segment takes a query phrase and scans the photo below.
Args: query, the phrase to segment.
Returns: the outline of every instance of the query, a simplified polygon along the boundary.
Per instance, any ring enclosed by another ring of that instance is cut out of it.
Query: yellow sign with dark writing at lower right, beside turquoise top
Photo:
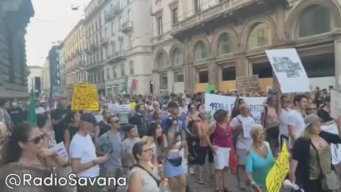
[[[283,181],[290,171],[289,162],[288,147],[286,146],[286,142],[284,142],[281,154],[279,154],[276,163],[269,171],[268,176],[266,176],[266,188],[268,188],[268,192],[281,191]]]

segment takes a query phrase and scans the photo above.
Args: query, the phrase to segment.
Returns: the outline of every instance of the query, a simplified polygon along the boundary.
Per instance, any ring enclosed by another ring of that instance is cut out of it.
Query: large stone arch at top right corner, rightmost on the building
[[[301,1],[298,6],[293,10],[288,20],[286,21],[286,38],[289,41],[296,40],[297,37],[297,26],[301,21],[303,14],[309,9],[310,6],[319,5],[323,6],[326,9],[329,9],[331,13],[331,19],[334,23],[334,28],[341,27],[341,5],[337,3],[336,0],[310,0],[310,1]]]

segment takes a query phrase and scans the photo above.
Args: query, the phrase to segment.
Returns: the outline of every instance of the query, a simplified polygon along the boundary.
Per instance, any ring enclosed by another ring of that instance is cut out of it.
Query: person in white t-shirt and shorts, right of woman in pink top
[[[254,122],[254,118],[250,116],[250,106],[246,103],[240,105],[240,114],[234,117],[231,122],[232,130],[238,134],[238,140],[236,144],[236,153],[238,156],[238,168],[237,168],[237,179],[238,186],[240,190],[245,190],[245,182],[241,181],[240,178],[245,178],[245,164],[247,150],[252,144],[252,139],[250,137],[250,128]]]

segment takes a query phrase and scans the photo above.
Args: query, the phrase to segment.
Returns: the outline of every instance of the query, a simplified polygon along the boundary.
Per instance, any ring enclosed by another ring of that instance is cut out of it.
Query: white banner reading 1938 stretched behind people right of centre
[[[252,117],[256,124],[261,124],[261,109],[266,97],[243,97],[244,101],[250,105]],[[227,110],[229,113],[234,107],[236,97],[205,94],[205,110],[214,114],[217,110]]]

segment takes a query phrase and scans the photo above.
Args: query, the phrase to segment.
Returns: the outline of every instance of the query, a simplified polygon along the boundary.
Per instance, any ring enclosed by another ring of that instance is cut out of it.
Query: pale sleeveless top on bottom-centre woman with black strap
[[[157,169],[154,169],[157,172]],[[134,174],[135,172],[139,173],[141,175],[142,178],[142,188],[140,192],[153,192],[153,191],[159,191],[158,189],[158,184],[156,183],[156,181],[154,180],[153,177],[151,177],[147,171],[145,171],[144,169],[141,169],[137,166],[134,166],[133,169],[131,169],[130,174],[129,174],[129,178],[132,174]],[[154,171],[155,172],[155,171]],[[158,176],[158,174],[156,173],[151,173],[153,174],[153,176],[157,179],[160,178],[160,176]],[[129,179],[128,179],[129,181]]]

